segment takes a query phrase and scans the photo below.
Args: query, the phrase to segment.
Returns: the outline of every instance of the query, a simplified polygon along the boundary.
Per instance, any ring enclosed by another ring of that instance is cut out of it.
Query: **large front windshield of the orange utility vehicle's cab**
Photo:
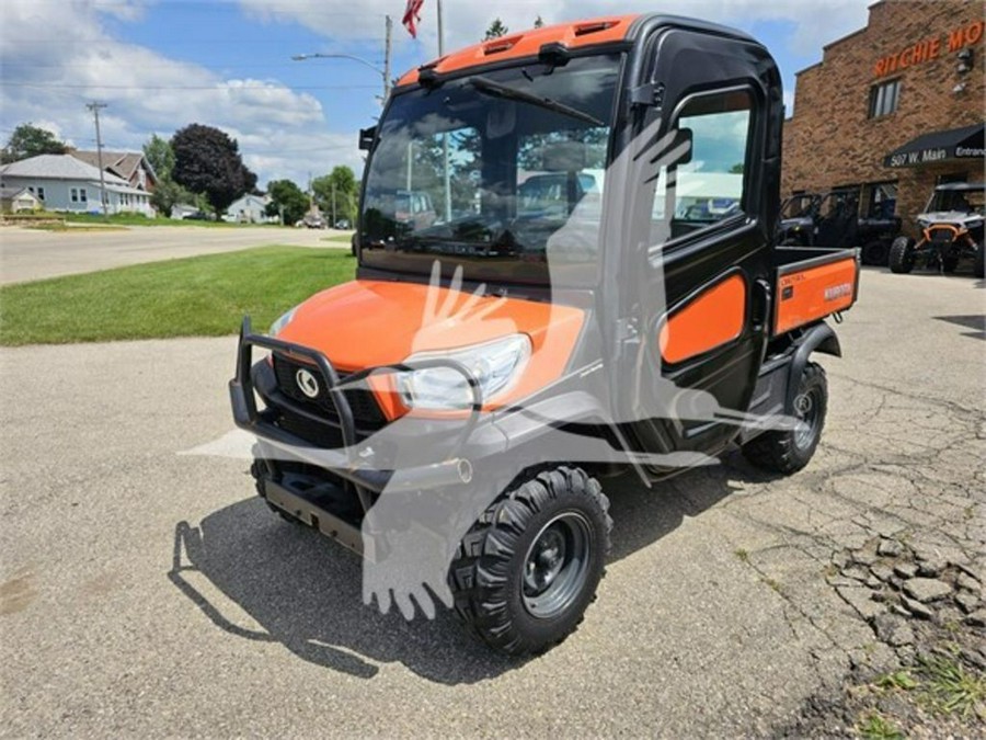
[[[363,263],[592,284],[620,57],[532,64],[397,95],[380,124]]]

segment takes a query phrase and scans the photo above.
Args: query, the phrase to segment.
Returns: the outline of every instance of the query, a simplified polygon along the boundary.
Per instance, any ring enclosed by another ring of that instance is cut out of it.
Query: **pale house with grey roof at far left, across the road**
[[[150,193],[108,172],[106,212],[153,216]],[[100,212],[100,170],[71,155],[39,155],[0,167],[0,186],[26,187],[48,210]]]

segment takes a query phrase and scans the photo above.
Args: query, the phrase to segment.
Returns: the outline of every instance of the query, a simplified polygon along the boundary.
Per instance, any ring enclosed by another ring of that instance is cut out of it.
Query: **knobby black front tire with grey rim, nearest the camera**
[[[515,656],[543,652],[575,631],[605,572],[608,510],[598,481],[567,466],[496,499],[449,569],[467,631]]]

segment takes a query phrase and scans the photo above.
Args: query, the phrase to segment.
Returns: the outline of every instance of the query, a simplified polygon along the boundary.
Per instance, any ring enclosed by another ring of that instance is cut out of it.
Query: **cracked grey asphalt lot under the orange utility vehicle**
[[[982,579],[982,287],[863,275],[802,473],[607,482],[599,599],[528,661],[364,607],[355,557],[274,516],[246,463],[179,454],[231,429],[233,338],[5,349],[0,733],[778,732],[908,647],[834,580],[846,553],[948,544]]]

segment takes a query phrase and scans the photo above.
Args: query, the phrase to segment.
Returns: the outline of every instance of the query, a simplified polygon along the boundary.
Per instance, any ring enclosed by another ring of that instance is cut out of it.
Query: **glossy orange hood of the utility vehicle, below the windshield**
[[[278,339],[319,350],[341,371],[353,372],[524,333],[531,341],[531,358],[511,394],[523,396],[562,374],[584,318],[572,306],[477,298],[417,283],[353,281],[301,304]]]

